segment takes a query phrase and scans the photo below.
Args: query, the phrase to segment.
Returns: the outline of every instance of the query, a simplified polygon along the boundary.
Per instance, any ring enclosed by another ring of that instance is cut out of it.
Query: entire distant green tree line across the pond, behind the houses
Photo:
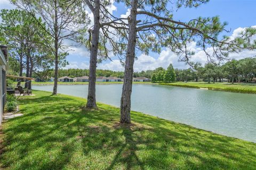
[[[59,77],[68,76],[71,78],[89,76],[89,69],[59,69]],[[111,70],[97,70],[97,77],[118,77],[123,79],[124,72]],[[37,71],[33,77],[47,80],[54,77],[54,70]],[[155,70],[134,72],[133,77],[145,77],[152,82],[174,82],[174,81],[205,81],[205,82],[255,82],[256,78],[256,58],[243,58],[241,60],[231,60],[225,64],[207,63],[204,66],[196,64],[194,68],[175,69],[172,64],[165,70],[158,67]]]

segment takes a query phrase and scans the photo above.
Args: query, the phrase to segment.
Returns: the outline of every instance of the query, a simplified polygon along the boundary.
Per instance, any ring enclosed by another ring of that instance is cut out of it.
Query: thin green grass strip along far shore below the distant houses
[[[34,86],[42,86],[42,85],[53,85],[53,82],[35,82],[33,81],[32,84]],[[87,85],[88,82],[58,82],[59,85]],[[123,82],[96,82],[96,84],[123,84]],[[151,82],[133,82],[133,84],[153,84]],[[155,83],[154,83],[155,84]]]

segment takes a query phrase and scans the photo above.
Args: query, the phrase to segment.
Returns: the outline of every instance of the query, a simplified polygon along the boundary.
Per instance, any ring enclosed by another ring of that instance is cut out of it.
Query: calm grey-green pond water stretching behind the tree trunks
[[[58,92],[86,98],[87,88],[58,86]],[[53,86],[33,89],[52,91]],[[97,101],[119,107],[121,92],[122,84],[97,85]],[[256,95],[134,84],[132,110],[256,142]]]

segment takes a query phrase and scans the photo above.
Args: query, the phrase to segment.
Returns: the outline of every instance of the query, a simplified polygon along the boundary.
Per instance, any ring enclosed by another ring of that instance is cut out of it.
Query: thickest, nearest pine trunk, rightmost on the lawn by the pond
[[[137,38],[137,7],[138,0],[132,1],[131,14],[129,20],[129,39],[125,59],[124,84],[121,97],[120,123],[131,123],[131,94],[132,94],[132,75],[135,57],[135,45]]]

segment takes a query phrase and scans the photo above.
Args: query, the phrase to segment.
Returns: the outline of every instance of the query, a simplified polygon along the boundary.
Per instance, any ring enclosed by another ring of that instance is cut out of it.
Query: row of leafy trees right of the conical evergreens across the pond
[[[206,82],[255,82],[256,58],[231,60],[219,65],[207,63],[196,65],[194,69],[175,69],[176,81],[206,81]]]

